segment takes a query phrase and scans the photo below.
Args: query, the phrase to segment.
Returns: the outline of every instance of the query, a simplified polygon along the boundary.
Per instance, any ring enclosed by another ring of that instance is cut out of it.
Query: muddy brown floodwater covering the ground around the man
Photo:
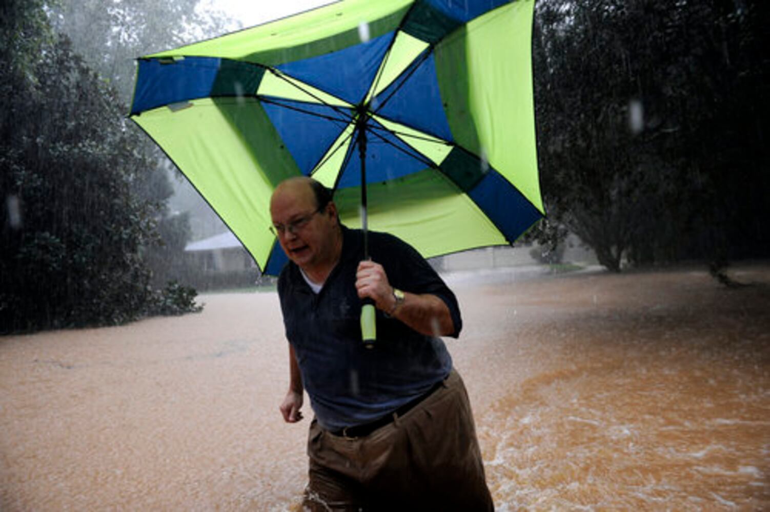
[[[447,344],[497,510],[770,509],[770,266],[480,275]],[[0,337],[0,510],[299,510],[277,296],[200,300]]]

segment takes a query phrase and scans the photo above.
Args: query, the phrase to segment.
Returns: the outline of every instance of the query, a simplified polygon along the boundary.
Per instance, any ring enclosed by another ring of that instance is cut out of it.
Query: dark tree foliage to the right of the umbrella
[[[750,0],[538,2],[551,221],[536,234],[567,226],[614,271],[768,256],[767,14]]]

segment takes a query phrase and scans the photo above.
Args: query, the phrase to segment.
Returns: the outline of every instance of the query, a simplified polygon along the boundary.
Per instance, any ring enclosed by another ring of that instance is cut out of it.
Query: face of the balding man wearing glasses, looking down
[[[305,271],[326,264],[333,251],[336,209],[327,204],[320,211],[309,185],[286,183],[276,188],[270,216],[286,256]]]

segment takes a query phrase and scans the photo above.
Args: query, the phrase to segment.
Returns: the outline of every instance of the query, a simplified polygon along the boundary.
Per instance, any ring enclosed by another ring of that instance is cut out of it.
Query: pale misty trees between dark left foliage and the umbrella
[[[118,91],[122,105],[129,105],[135,79],[135,59],[141,55],[172,48],[198,38],[224,32],[226,16],[222,12],[197,12],[199,0],[59,0],[50,18],[57,32],[72,40],[73,48]],[[115,122],[122,122],[113,112]],[[139,131],[134,125],[129,130]],[[136,138],[136,151],[145,155],[152,169],[146,186],[135,187],[136,194],[158,204],[156,222],[160,234],[156,243],[143,253],[152,270],[152,284],[184,281],[191,273],[184,248],[190,236],[187,216],[173,214],[166,208],[173,190],[169,182],[166,155],[144,136]]]

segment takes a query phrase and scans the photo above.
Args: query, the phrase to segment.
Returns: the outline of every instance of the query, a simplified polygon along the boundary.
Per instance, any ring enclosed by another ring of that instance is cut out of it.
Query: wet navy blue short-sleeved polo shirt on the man
[[[443,300],[454,321],[452,336],[460,334],[457,298],[416,250],[391,234],[370,231],[369,252],[383,265],[393,287]],[[340,261],[318,294],[291,261],[278,279],[286,338],[296,353],[313,412],[321,426],[332,431],[392,413],[452,369],[444,341],[413,331],[379,310],[377,341],[373,348],[363,345],[355,286],[362,259],[362,232],[343,226]]]

